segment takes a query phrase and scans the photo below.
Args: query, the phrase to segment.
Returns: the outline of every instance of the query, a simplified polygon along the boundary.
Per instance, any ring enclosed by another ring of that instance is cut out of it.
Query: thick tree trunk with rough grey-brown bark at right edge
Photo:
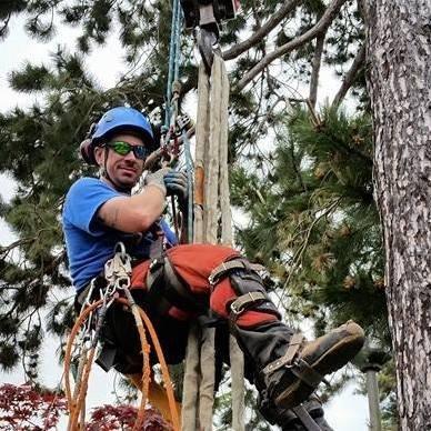
[[[431,1],[365,6],[400,425],[423,431],[431,429]]]

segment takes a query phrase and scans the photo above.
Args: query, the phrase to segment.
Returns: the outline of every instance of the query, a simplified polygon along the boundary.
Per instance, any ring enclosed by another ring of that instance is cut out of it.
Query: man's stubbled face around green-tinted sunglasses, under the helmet
[[[100,167],[107,170],[108,179],[113,182],[113,186],[121,189],[131,189],[134,187],[142,174],[144,160],[134,156],[133,151],[129,151],[127,154],[121,156],[110,147],[114,142],[129,143],[132,147],[142,146],[141,139],[132,134],[117,134],[107,144],[107,148],[96,148],[94,157]],[[124,146],[122,146],[124,147]],[[106,159],[106,151],[108,151],[108,158]]]

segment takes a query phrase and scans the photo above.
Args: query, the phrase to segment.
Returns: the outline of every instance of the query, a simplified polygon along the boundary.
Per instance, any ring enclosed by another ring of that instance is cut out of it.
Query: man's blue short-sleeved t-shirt
[[[123,241],[128,253],[133,258],[147,259],[151,243],[156,240],[152,232],[146,232],[139,240],[137,235],[106,227],[98,220],[99,208],[108,200],[127,196],[96,178],[81,178],[70,188],[62,214],[69,270],[74,288],[80,291],[89,281],[99,275],[104,263],[113,257],[117,242]],[[161,228],[171,244],[176,235],[162,221]]]

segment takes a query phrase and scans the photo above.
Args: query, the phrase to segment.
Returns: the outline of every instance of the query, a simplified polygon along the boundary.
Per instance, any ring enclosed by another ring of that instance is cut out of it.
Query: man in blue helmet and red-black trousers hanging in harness
[[[186,207],[187,180],[181,172],[160,169],[146,177],[139,194],[131,196],[153,148],[149,120],[132,108],[109,110],[89,132],[82,153],[89,163],[99,166],[101,176],[78,180],[63,211],[78,302],[82,303],[90,281],[100,278],[116,243],[126,241],[136,259],[133,295],[150,311],[157,329],[168,334],[163,337],[168,353],[173,351],[176,357],[176,348],[168,345],[172,331],[210,309],[229,322],[244,352],[260,392],[262,413],[285,430],[297,429],[288,410],[303,402],[324,374],[340,369],[358,353],[364,339],[362,329],[348,322],[314,341],[303,340],[281,322],[255,268],[230,248],[182,244],[154,254],[166,198],[177,196]],[[133,331],[127,332],[129,337],[122,332],[130,322],[128,313],[117,310],[108,317],[106,334],[118,348],[116,368],[127,374],[141,367]],[[182,357],[180,353],[172,361]],[[317,410],[319,414],[314,415],[321,417],[321,409]]]

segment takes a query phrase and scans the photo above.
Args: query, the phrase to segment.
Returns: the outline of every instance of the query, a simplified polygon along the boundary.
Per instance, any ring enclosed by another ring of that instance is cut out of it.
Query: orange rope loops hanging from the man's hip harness
[[[169,375],[168,365],[167,365],[166,360],[164,360],[163,351],[161,349],[161,345],[160,345],[160,342],[159,342],[159,339],[157,337],[154,328],[153,328],[150,319],[146,314],[146,312],[138,304],[130,303],[130,301],[126,298],[117,297],[117,298],[114,298],[114,300],[117,302],[120,302],[122,304],[128,305],[131,309],[133,317],[134,317],[134,320],[136,320],[136,323],[137,323],[137,329],[138,329],[140,341],[141,341],[142,353],[144,355],[144,360],[142,363],[142,388],[141,388],[142,398],[141,398],[141,403],[140,403],[140,407],[138,410],[137,421],[134,423],[133,430],[138,431],[142,427],[142,422],[144,419],[144,408],[146,408],[146,402],[147,402],[148,393],[149,393],[149,383],[150,383],[150,379],[151,379],[150,368],[146,367],[146,364],[150,363],[150,359],[149,359],[150,345],[147,341],[144,328],[142,324],[142,320],[143,320],[148,331],[150,332],[151,340],[153,342],[153,345],[154,345],[154,349],[156,349],[156,352],[157,352],[157,355],[159,359],[159,363],[160,363],[161,369],[162,369],[162,375],[163,375],[163,381],[164,381],[164,384],[167,388],[167,394],[168,394],[169,408],[171,411],[171,418],[172,418],[172,422],[173,422],[173,429],[174,429],[174,431],[180,431],[180,421],[179,421],[179,415],[178,415],[178,411],[176,408],[176,400],[174,400],[174,395],[173,395],[173,385],[172,385],[172,381],[171,381],[170,375]],[[88,319],[89,314],[93,310],[100,308],[102,305],[102,303],[103,303],[103,300],[98,300],[98,301],[93,302],[92,304],[88,305],[81,312],[81,314],[78,317],[78,319],[77,319],[77,321],[76,321],[76,323],[70,332],[69,339],[68,339],[66,354],[64,354],[64,385],[66,385],[66,397],[68,399],[68,405],[69,405],[69,411],[70,411],[68,431],[76,431],[76,427],[77,427],[76,422],[78,420],[79,412],[82,408],[82,403],[86,400],[87,390],[88,390],[88,380],[89,380],[90,370],[91,370],[91,365],[92,365],[93,357],[94,357],[94,351],[96,351],[94,348],[92,348],[90,350],[90,355],[89,355],[89,359],[87,360],[86,365],[84,365],[83,377],[82,377],[82,381],[80,382],[80,389],[78,391],[78,395],[72,398],[69,375],[70,375],[71,351],[72,351],[73,341],[78,334],[79,329],[84,323],[84,321]]]

